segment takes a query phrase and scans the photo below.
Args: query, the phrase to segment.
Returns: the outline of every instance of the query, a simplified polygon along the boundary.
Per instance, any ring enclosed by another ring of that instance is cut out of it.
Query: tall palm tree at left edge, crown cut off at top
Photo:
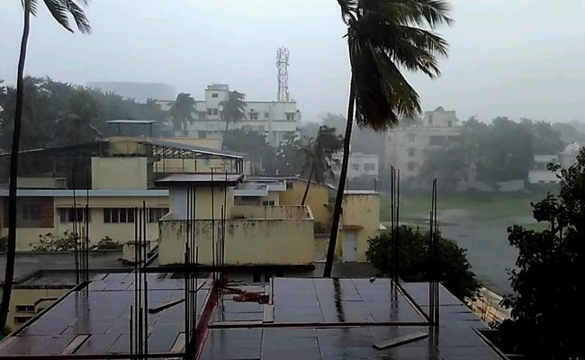
[[[80,0],[87,4],[87,0]],[[84,10],[76,4],[75,0],[44,0],[49,13],[67,31],[74,32],[69,23],[69,15],[73,17],[76,27],[83,33],[90,33],[91,27],[85,17]],[[10,297],[14,282],[14,257],[16,252],[16,181],[18,177],[18,150],[21,139],[21,123],[23,121],[23,97],[24,97],[24,62],[26,60],[26,47],[31,31],[31,14],[37,14],[39,0],[22,0],[24,10],[23,37],[21,40],[21,52],[18,59],[18,72],[16,76],[16,108],[14,110],[13,143],[10,154],[10,184],[8,187],[8,239],[6,249],[6,271],[4,274],[4,290],[2,304],[0,304],[0,329],[4,328]]]

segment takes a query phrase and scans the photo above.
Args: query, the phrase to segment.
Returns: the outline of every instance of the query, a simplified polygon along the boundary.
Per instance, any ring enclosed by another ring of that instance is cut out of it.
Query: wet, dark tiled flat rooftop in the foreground
[[[95,276],[0,343],[0,359],[127,356],[134,279]],[[428,322],[427,283],[274,278],[266,285],[216,287],[223,290],[219,300],[211,295],[211,279],[197,284],[192,306],[199,359],[502,358],[477,331],[486,325],[442,286],[437,327]],[[184,351],[183,299],[181,275],[148,275],[148,310],[160,309],[148,311],[145,320],[150,354],[177,357]],[[408,344],[393,344],[405,337]]]

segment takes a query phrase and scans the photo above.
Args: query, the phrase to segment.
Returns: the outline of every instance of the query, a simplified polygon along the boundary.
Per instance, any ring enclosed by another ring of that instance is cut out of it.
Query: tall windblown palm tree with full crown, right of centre
[[[333,266],[354,116],[360,127],[386,130],[400,119],[417,115],[419,94],[401,69],[439,76],[437,57],[447,55],[448,44],[433,30],[451,23],[449,5],[443,0],[338,0],[338,4],[347,25],[351,80],[343,162],[323,276],[330,276]]]

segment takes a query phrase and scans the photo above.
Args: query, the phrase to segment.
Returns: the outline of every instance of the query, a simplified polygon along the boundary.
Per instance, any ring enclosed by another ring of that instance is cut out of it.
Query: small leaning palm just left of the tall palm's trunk
[[[317,139],[309,140],[309,143],[302,148],[302,153],[305,157],[305,168],[309,167],[309,178],[307,179],[307,186],[305,193],[302,194],[302,202],[304,205],[311,187],[311,179],[315,178],[315,183],[323,184],[328,177],[333,177],[331,170],[331,162],[333,161],[333,154],[343,148],[343,137],[336,135],[335,128],[329,128],[327,125],[321,125],[317,132]]]

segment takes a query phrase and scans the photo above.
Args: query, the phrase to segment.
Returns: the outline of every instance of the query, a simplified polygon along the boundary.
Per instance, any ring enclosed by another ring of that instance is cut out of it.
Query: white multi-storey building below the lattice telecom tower
[[[187,125],[187,129],[175,135],[197,138],[222,138],[226,123],[221,120],[220,103],[228,99],[229,85],[208,85],[205,89],[205,100],[196,100],[197,113],[195,121]],[[173,101],[158,100],[163,110],[170,109]],[[238,122],[230,122],[229,129],[255,130],[266,135],[266,140],[277,146],[285,134],[298,134],[301,124],[301,112],[297,103],[275,101],[246,100],[246,118]]]

